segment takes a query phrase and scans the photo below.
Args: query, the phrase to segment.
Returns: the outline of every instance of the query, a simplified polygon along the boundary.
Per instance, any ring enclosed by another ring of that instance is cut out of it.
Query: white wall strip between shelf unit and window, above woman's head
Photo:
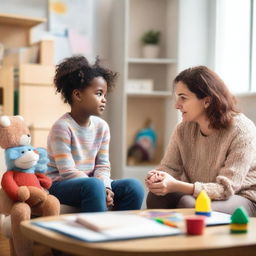
[[[212,0],[179,0],[178,71],[211,64]]]

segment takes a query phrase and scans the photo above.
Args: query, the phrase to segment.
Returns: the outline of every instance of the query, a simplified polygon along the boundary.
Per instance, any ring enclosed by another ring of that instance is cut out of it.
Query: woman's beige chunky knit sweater
[[[256,202],[256,127],[243,114],[232,127],[203,136],[193,122],[180,123],[156,168],[204,189],[212,200],[238,194]]]

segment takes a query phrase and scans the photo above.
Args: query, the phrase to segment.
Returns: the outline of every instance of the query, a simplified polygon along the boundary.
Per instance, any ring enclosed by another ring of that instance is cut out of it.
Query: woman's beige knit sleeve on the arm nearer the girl
[[[160,162],[160,165],[156,167],[156,170],[165,171],[172,175],[175,179],[179,179],[183,173],[183,164],[180,149],[177,143],[178,127],[170,138],[167,150]]]

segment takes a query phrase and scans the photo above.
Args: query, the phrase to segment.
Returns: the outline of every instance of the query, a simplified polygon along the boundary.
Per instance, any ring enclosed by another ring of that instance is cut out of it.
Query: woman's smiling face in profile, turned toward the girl
[[[207,118],[208,97],[198,99],[196,94],[191,92],[182,82],[176,84],[175,96],[175,107],[181,111],[183,121],[200,123],[201,120]]]

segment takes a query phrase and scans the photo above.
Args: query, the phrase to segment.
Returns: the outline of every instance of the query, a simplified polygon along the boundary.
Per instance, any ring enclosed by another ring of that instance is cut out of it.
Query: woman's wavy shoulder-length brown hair
[[[239,113],[235,96],[230,93],[222,79],[209,68],[188,68],[177,75],[173,86],[175,87],[178,82],[184,83],[198,99],[210,98],[210,105],[206,109],[210,128],[228,128],[234,115]]]

